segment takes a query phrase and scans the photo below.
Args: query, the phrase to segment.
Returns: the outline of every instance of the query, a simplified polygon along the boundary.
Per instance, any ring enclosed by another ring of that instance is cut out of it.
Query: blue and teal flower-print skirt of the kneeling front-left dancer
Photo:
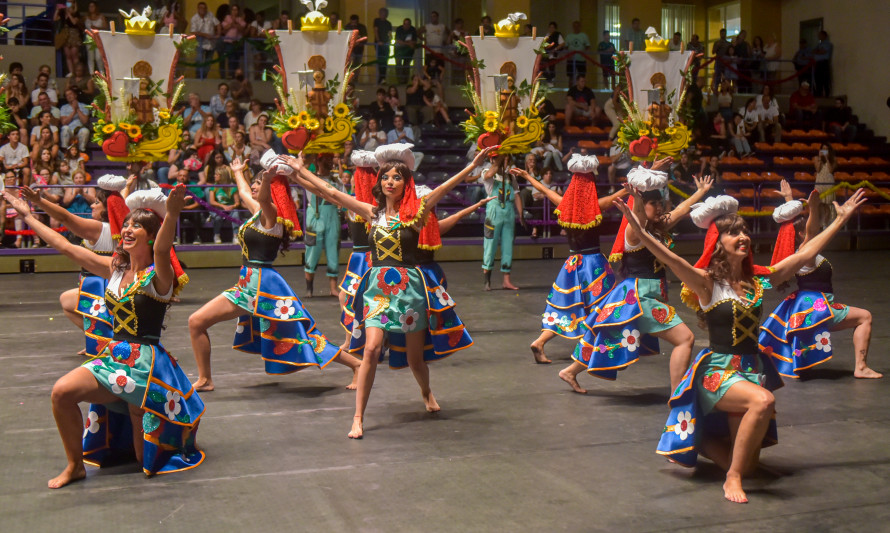
[[[142,469],[147,475],[188,470],[204,460],[196,445],[204,402],[162,346],[112,340],[99,357],[83,366],[122,400],[90,405],[83,433],[85,462],[102,466],[121,453],[132,453],[126,404],[144,410]]]

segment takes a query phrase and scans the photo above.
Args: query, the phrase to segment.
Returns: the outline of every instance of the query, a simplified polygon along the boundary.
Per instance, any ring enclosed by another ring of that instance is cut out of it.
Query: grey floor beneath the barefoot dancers
[[[886,265],[890,252],[834,252],[838,300],[875,315],[871,363],[890,372]],[[763,258],[764,260],[768,260]],[[667,416],[667,358],[646,358],[617,382],[557,377],[572,343],[548,345],[553,365],[532,363],[544,298],[560,261],[519,261],[522,290],[481,292],[478,263],[446,263],[475,346],[431,366],[442,405],[423,410],[409,370],[381,368],[365,438],[346,438],[350,374],[331,365],[267,376],[258,357],[230,347],[234,324],[211,330],[217,390],[198,443],[206,461],[146,479],[135,465],[89,468],[58,491],[64,466],[50,411],[53,382],[75,367],[81,336],[58,294],[74,274],[0,277],[0,516],[3,531],[888,531],[890,378],[852,376],[852,335],[836,356],[777,393],[779,440],[746,487],[751,503],[722,498],[712,465],[688,470],[656,455]],[[186,320],[230,286],[232,270],[195,270],[171,310],[164,345],[190,375]],[[302,293],[302,272],[284,269]],[[495,273],[495,285],[500,276]],[[319,280],[322,281],[322,280]],[[318,285],[321,285],[319,283]],[[679,285],[671,296],[679,301]],[[780,296],[770,294],[766,305]],[[306,301],[340,339],[333,298]],[[695,319],[678,307],[697,334]],[[696,344],[705,344],[701,334]],[[664,345],[662,346],[664,348]]]

